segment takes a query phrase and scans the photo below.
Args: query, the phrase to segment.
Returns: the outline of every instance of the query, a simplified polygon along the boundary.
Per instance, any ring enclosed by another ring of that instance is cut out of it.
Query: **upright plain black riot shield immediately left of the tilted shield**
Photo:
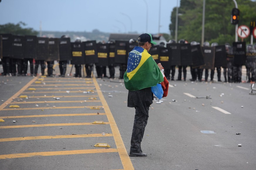
[[[180,44],[181,66],[192,65],[191,45]]]

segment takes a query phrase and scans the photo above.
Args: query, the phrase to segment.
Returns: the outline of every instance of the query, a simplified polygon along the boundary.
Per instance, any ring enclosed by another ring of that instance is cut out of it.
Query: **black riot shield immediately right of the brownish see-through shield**
[[[215,47],[215,61],[214,67],[227,66],[227,54],[225,45],[218,45]]]

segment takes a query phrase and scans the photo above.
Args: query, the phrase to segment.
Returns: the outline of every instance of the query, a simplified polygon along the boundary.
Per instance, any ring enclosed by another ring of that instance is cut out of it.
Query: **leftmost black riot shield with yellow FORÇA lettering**
[[[71,43],[72,60],[71,64],[84,63],[84,44],[80,42]]]

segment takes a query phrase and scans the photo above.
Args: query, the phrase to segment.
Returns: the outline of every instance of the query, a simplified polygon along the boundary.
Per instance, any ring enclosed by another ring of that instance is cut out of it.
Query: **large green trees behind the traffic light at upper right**
[[[256,20],[256,2],[251,0],[236,0],[240,10],[239,25],[249,26]],[[205,9],[205,41],[219,44],[235,41],[235,25],[230,23],[231,10],[235,8],[233,1],[206,0]],[[178,19],[178,40],[197,41],[201,43],[203,0],[181,0]],[[171,14],[169,29],[175,36],[176,7]],[[238,38],[238,41],[241,41]],[[250,38],[244,41],[249,42]]]

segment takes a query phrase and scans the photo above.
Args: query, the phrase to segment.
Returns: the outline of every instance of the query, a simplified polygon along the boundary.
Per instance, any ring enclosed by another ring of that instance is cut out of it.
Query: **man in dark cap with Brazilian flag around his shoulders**
[[[163,82],[160,71],[161,64],[148,53],[151,44],[156,44],[150,34],[141,34],[138,38],[138,47],[129,52],[127,70],[124,73],[124,84],[128,92],[128,107],[135,108],[135,118],[131,137],[129,156],[146,157],[142,153],[140,143],[148,122],[149,106],[153,103],[151,87]]]

